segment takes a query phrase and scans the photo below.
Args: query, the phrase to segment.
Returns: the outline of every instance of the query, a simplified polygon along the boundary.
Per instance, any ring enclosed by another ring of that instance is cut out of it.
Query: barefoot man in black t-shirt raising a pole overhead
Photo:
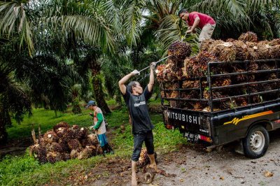
[[[140,74],[139,71],[134,70],[132,73],[123,77],[118,85],[120,92],[123,94],[125,103],[130,109],[132,118],[132,134],[134,135],[134,150],[132,154],[132,185],[137,185],[136,167],[137,161],[140,157],[143,142],[145,142],[148,156],[151,160],[150,167],[158,171],[157,164],[155,163],[155,152],[153,146],[153,124],[151,123],[150,115],[148,114],[147,101],[151,98],[153,85],[155,83],[155,76],[153,70],[155,69],[155,62],[151,63],[150,81],[145,90],[137,81],[130,82],[127,87],[125,83],[132,76]]]

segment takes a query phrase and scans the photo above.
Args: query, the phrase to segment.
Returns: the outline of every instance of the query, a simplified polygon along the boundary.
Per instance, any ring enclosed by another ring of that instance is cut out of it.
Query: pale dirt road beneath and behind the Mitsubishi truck
[[[209,153],[188,146],[159,160],[159,167],[176,177],[157,175],[153,185],[280,185],[280,130],[270,133],[269,149],[259,159],[247,159],[230,146]]]

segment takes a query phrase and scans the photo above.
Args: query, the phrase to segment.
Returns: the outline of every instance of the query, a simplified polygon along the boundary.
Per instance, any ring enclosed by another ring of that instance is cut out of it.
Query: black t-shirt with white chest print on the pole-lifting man
[[[151,96],[152,92],[148,91],[148,86],[146,86],[144,92],[139,96],[133,95],[127,89],[125,95],[123,95],[125,103],[130,109],[133,134],[151,131],[153,129],[153,124],[151,123],[147,106],[147,101],[151,98]]]

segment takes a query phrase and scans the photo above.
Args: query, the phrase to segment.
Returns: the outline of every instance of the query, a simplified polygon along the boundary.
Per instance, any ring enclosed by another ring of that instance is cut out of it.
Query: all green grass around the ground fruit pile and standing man
[[[53,125],[60,121],[68,122],[71,125],[78,124],[83,127],[91,125],[88,115],[89,110],[83,109],[83,113],[80,115],[73,115],[71,112],[60,113],[57,117],[55,117],[53,111],[42,108],[34,109],[33,113],[34,115],[25,118],[22,124],[13,123],[13,127],[8,129],[9,139],[30,136],[32,124],[34,124],[35,129],[40,124],[43,132],[52,129]],[[111,114],[106,115],[106,120],[109,122],[109,128],[113,131],[111,143],[115,150],[115,155],[109,155],[109,157],[118,156],[130,159],[133,150],[133,136],[128,123],[127,108],[113,110]],[[170,152],[175,150],[178,144],[186,143],[186,139],[182,137],[178,130],[165,129],[161,114],[151,114],[151,120],[155,125],[153,133],[157,152]],[[122,124],[125,125],[125,131],[120,130]],[[69,178],[69,175],[73,175],[73,172],[90,170],[97,162],[100,162],[100,159],[104,161],[104,157],[97,156],[83,160],[71,159],[67,162],[42,165],[34,157],[30,157],[28,152],[19,157],[6,156],[0,162],[0,185],[45,185],[48,183],[65,185],[64,181]]]

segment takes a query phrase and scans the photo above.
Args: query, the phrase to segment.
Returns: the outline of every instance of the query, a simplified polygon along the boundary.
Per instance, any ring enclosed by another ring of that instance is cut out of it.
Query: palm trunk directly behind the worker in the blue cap
[[[99,78],[100,71],[92,70],[92,87],[94,92],[94,97],[97,101],[97,106],[101,108],[104,114],[111,113],[105,99],[104,92],[102,90],[102,80]]]

